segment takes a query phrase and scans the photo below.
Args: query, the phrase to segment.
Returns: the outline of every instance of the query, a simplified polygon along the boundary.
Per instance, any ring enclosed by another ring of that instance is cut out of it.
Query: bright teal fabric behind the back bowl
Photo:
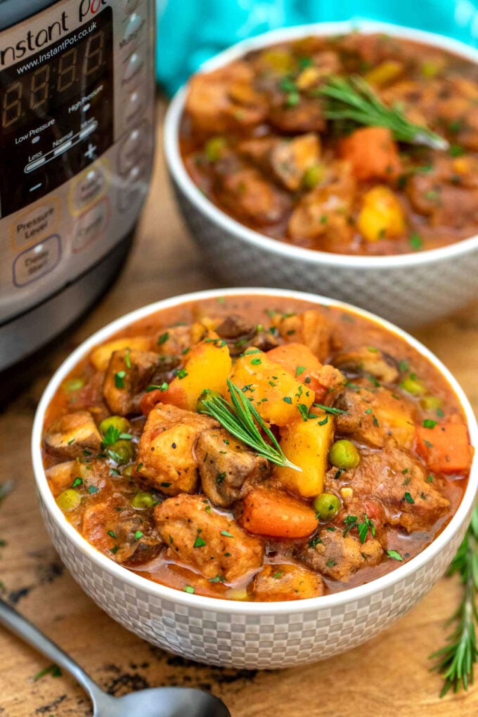
[[[373,19],[478,47],[478,0],[157,0],[158,80],[172,94],[204,60],[246,37],[306,22]]]

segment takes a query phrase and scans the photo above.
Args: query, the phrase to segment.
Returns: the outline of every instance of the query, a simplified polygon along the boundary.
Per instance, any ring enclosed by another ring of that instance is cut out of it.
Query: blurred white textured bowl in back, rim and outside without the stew
[[[204,64],[214,70],[249,50],[308,34],[334,35],[359,28],[434,45],[478,62],[478,50],[441,35],[377,22],[335,22],[280,29],[239,42]],[[179,151],[186,89],[166,115],[164,146],[179,206],[206,262],[229,284],[318,291],[349,301],[400,326],[439,319],[478,298],[478,236],[448,247],[391,257],[318,252],[244,227],[218,209],[193,183]]]

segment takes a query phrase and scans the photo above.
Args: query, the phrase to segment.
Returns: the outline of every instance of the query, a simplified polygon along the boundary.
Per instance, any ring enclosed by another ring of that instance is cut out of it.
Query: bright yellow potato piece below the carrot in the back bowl
[[[374,186],[363,195],[357,226],[368,242],[400,237],[406,231],[400,202],[387,186]]]

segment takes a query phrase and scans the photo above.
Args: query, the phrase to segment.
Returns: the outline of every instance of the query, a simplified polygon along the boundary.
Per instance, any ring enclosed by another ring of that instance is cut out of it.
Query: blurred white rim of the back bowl
[[[422,42],[432,47],[439,47],[453,54],[458,54],[460,57],[478,63],[478,49],[459,40],[434,32],[426,32],[424,30],[406,27],[404,25],[357,19],[342,22],[318,22],[270,30],[256,37],[237,42],[223,52],[219,52],[219,54],[214,55],[214,57],[204,62],[198,72],[216,70],[216,68],[226,65],[228,62],[231,62],[231,60],[236,60],[252,49],[267,47],[267,45],[276,42],[297,39],[307,34],[327,36],[345,34],[357,29],[360,30],[360,32],[386,32],[386,34],[390,34],[393,37]],[[221,229],[224,229],[224,232],[233,234],[234,237],[242,239],[242,241],[247,242],[247,244],[252,244],[254,247],[272,252],[284,258],[302,260],[303,262],[309,262],[315,265],[356,267],[358,269],[380,270],[419,266],[428,264],[429,262],[450,260],[478,249],[478,234],[474,234],[472,237],[460,239],[453,244],[447,244],[444,247],[427,249],[420,252],[408,252],[406,254],[386,256],[335,254],[334,252],[322,252],[320,250],[297,247],[295,244],[287,244],[286,242],[281,242],[279,239],[272,239],[272,237],[268,237],[266,234],[261,234],[261,232],[256,232],[254,229],[246,227],[236,219],[229,217],[229,214],[223,212],[222,209],[219,209],[216,204],[208,199],[199,187],[194,184],[186,171],[179,151],[179,125],[186,100],[186,90],[187,83],[176,92],[166,111],[163,130],[163,148],[166,163],[171,172],[171,176],[183,194],[186,195],[196,209],[199,209],[199,212],[204,214],[214,224],[218,224]]]

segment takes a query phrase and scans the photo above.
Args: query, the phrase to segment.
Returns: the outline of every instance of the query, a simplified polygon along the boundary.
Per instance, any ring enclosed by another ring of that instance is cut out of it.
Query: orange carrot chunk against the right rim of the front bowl
[[[416,450],[434,473],[467,473],[472,465],[473,449],[463,424],[446,423],[434,428],[419,426]]]

